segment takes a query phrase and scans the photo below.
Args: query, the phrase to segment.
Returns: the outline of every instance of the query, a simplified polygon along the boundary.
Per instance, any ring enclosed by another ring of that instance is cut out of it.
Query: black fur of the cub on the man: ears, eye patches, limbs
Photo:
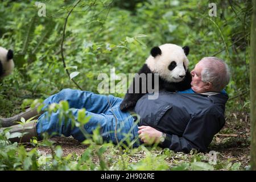
[[[188,55],[189,53],[189,47],[185,46],[183,47],[185,56]],[[151,49],[151,55],[153,57],[156,57],[158,55],[161,55],[162,51],[159,47],[154,47]],[[171,63],[173,64],[173,63]],[[171,68],[172,65],[169,65],[168,69],[173,69]],[[165,80],[164,78],[161,77],[161,75],[159,75],[159,90],[167,90],[168,92],[176,92],[176,91],[181,91],[181,90],[187,90],[189,88],[191,88],[191,81],[192,81],[192,77],[191,77],[191,73],[190,71],[185,68],[185,65],[183,63],[184,69],[185,69],[185,77],[182,81],[180,82],[169,82],[167,80]],[[175,67],[175,65],[173,65],[173,67]],[[143,67],[139,70],[138,75],[140,74],[148,74],[148,73],[152,73],[152,87],[154,86],[154,72],[152,72],[150,70],[150,68],[148,68],[147,64],[144,64]],[[146,93],[142,93],[142,87],[146,86],[147,88],[147,77],[146,77],[146,83],[142,82],[142,80],[139,80],[139,93],[135,93],[135,77],[133,78],[133,93],[129,93],[129,89],[127,90],[127,93],[125,95],[125,98],[123,99],[121,105],[120,105],[120,109],[122,111],[126,111],[126,110],[130,110],[133,109],[133,107],[137,104],[137,101],[139,100],[139,98],[141,98],[144,94]],[[152,88],[154,89],[154,88]],[[148,90],[146,90],[146,92],[148,93]]]

